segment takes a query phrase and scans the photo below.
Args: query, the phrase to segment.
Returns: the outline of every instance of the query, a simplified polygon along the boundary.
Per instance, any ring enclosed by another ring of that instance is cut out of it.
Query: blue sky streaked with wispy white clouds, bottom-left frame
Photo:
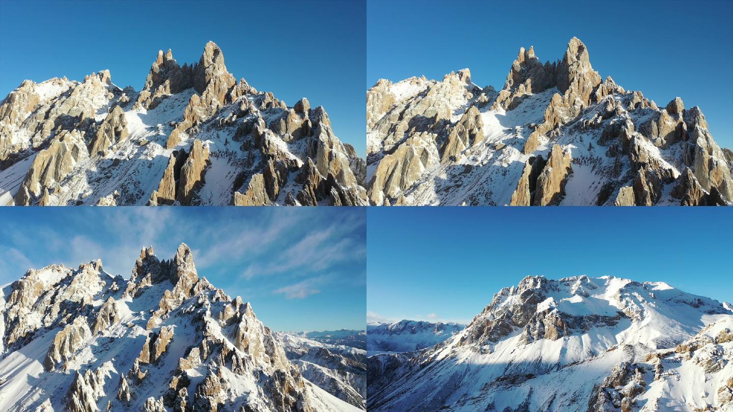
[[[0,284],[97,258],[129,279],[142,246],[170,259],[184,242],[199,276],[250,301],[273,330],[364,329],[366,225],[352,207],[9,207]]]

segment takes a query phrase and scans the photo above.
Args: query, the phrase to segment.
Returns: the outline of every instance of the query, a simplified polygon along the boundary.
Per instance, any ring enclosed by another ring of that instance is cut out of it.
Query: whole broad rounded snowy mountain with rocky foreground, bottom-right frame
[[[367,409],[729,411],[732,331],[663,282],[528,276],[445,342],[370,356]]]

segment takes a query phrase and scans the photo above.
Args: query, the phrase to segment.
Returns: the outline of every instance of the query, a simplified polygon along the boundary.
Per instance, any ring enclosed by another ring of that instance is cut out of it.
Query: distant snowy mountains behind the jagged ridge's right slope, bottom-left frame
[[[284,332],[279,332],[278,336],[284,343],[287,358],[298,367],[304,378],[340,400],[365,409],[366,350],[349,345],[331,345]]]

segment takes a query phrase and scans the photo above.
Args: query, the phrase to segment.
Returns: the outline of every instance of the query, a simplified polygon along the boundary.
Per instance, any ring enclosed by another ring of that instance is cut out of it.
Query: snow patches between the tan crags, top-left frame
[[[51,81],[37,85],[37,88],[48,96],[53,96],[59,86]],[[114,84],[109,89],[115,88]],[[163,172],[174,150],[191,150],[191,144],[196,139],[201,140],[210,150],[210,166],[206,169],[205,181],[199,190],[200,202],[203,205],[230,205],[232,202],[233,185],[238,175],[253,174],[259,164],[260,154],[256,150],[243,150],[240,143],[232,141],[240,122],[248,117],[239,119],[229,125],[218,125],[219,120],[229,117],[242,100],[253,100],[261,95],[245,95],[234,102],[218,109],[216,116],[207,119],[199,125],[195,136],[180,133],[182,140],[176,147],[166,149],[168,136],[174,130],[175,124],[183,120],[183,114],[191,96],[196,94],[194,89],[186,89],[176,95],[166,96],[162,102],[152,110],[134,108],[133,95],[130,103],[125,105],[125,120],[129,136],[114,144],[103,157],[92,156],[89,160],[81,161],[74,166],[64,180],[55,188],[51,188],[51,202],[63,205],[97,205],[101,198],[119,193],[117,205],[147,205],[153,191],[163,177]],[[101,122],[108,115],[113,100],[100,96],[93,96],[89,103],[96,108],[96,122]],[[52,104],[53,98],[50,100]],[[257,106],[257,105],[254,105]],[[269,124],[273,119],[279,119],[283,111],[279,108],[267,108],[256,111],[249,117],[261,115]],[[26,144],[29,141],[23,128],[16,130],[18,141]],[[14,135],[15,136],[15,135]],[[89,141],[90,136],[85,136]],[[281,153],[290,158],[298,166],[308,161],[308,139],[295,139],[285,142],[282,139],[270,139]],[[0,171],[0,205],[12,204],[12,198],[20,188],[26,172],[32,164],[37,152],[27,149],[22,161],[13,164],[8,169]],[[343,155],[336,153],[335,155]],[[348,163],[348,161],[347,161]],[[289,191],[296,188],[293,172],[284,189],[280,191],[276,204],[283,204]],[[298,187],[299,188],[299,187]],[[297,192],[297,191],[296,191]],[[294,192],[295,193],[295,192]]]

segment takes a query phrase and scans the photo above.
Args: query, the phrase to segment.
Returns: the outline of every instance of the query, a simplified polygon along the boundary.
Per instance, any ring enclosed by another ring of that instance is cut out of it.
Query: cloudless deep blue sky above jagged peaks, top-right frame
[[[367,19],[367,88],[468,67],[498,90],[520,47],[555,61],[575,36],[603,78],[660,106],[699,106],[733,148],[733,1],[369,0]]]

